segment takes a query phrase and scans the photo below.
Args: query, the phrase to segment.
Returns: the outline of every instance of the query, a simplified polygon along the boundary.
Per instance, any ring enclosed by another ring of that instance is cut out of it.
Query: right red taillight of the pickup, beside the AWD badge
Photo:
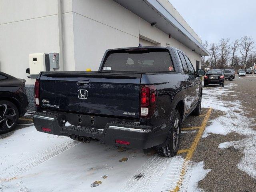
[[[143,85],[140,88],[140,117],[149,117],[156,108],[156,87]]]

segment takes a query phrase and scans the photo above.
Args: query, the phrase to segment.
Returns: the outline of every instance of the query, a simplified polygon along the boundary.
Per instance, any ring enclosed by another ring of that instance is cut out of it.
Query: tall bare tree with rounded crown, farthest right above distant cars
[[[253,50],[254,48],[254,42],[251,37],[243,36],[241,38],[241,46],[240,46],[240,52],[243,56],[244,60],[244,69],[246,69],[246,59],[248,54]]]

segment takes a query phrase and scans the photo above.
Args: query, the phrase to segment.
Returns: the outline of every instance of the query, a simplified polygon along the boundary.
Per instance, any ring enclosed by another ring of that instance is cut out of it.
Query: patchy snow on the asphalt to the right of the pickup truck
[[[221,110],[224,115],[210,120],[211,124],[206,127],[202,137],[205,138],[210,134],[227,135],[231,132],[245,136],[242,140],[221,143],[219,148],[232,146],[240,150],[244,156],[237,167],[256,179],[256,131],[251,128],[255,125],[255,118],[245,115],[246,109],[239,100],[228,102],[222,99],[223,96],[230,96],[236,92],[232,90],[234,86],[236,84],[230,83],[225,87],[211,87],[203,90],[202,107]]]

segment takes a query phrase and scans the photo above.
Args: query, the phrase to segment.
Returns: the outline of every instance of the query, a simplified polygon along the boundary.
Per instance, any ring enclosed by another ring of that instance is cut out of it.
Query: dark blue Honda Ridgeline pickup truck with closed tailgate
[[[180,125],[200,114],[204,70],[170,47],[107,50],[98,72],[41,72],[34,125],[40,132],[91,138],[174,156]]]

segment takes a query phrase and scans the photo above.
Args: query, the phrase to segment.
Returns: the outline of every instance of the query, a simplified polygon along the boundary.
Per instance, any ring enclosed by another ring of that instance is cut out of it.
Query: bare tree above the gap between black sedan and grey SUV
[[[230,45],[228,44],[230,38],[228,39],[220,39],[220,43],[218,45],[218,53],[220,54],[220,64],[219,67],[221,69],[224,68],[227,64],[228,56],[230,54]]]

